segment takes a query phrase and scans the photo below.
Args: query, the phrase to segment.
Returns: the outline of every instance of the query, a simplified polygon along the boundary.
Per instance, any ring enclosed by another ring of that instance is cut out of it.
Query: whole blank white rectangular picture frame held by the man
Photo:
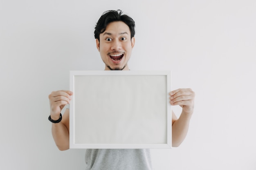
[[[70,148],[171,148],[171,71],[70,71]]]

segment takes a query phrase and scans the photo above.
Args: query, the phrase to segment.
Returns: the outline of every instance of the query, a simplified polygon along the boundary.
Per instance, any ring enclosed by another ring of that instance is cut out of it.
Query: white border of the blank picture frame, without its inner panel
[[[98,148],[98,149],[142,149],[142,148],[172,148],[172,106],[169,103],[171,92],[171,71],[70,71],[70,91],[74,92],[74,77],[79,75],[166,75],[166,115],[167,130],[166,144],[76,144],[74,128],[75,93],[70,102],[70,148]]]

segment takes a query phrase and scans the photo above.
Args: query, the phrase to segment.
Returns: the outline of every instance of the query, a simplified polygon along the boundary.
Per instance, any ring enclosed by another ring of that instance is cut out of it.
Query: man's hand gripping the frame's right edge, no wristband
[[[194,109],[195,92],[191,88],[179,88],[169,93],[170,104],[172,106],[180,105],[182,112],[192,114]]]

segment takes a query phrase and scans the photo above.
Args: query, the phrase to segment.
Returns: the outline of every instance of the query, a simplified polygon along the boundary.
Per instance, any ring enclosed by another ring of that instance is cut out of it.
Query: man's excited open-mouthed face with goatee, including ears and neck
[[[130,29],[124,22],[110,22],[96,39],[97,49],[105,63],[105,70],[129,70],[127,62],[135,43]]]

